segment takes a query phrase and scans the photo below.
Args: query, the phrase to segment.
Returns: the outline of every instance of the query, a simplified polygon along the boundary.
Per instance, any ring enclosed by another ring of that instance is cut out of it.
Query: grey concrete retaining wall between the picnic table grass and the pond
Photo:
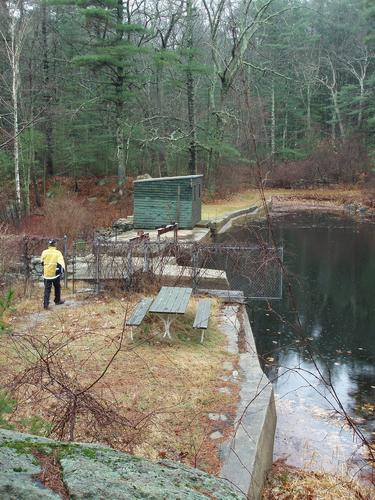
[[[235,352],[242,336],[246,352],[239,354],[240,400],[232,438],[223,446],[221,477],[247,498],[261,498],[265,476],[272,465],[276,408],[270,381],[260,367],[254,337],[244,305],[225,307],[222,327]]]

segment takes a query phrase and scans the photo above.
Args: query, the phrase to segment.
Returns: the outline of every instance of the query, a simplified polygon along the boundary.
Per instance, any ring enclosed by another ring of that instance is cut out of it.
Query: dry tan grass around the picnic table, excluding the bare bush
[[[17,313],[8,318],[14,332],[19,332],[20,338],[32,334],[45,342],[52,339],[55,346],[69,339],[69,346],[59,351],[59,356],[81,385],[90,384],[118,346],[124,318],[140,296],[83,297],[75,307],[53,307],[38,316],[41,294],[42,290],[36,290],[34,296],[17,305]],[[69,296],[65,293],[64,298]],[[157,317],[146,321],[134,343],[125,340],[110,370],[95,386],[95,393],[113,402],[131,422],[130,428],[124,429],[123,439],[118,435],[114,439],[117,448],[151,459],[182,460],[215,473],[219,469],[216,446],[222,439],[214,441],[209,434],[216,430],[224,435],[229,432],[238,389],[220,380],[220,376],[224,374],[223,362],[236,360],[226,351],[226,339],[217,329],[215,312],[205,343],[199,343],[200,332],[191,327],[195,299],[191,302],[188,312],[173,324],[171,342],[158,335],[162,324]],[[23,345],[14,338],[0,339],[3,380],[11,382],[33,363],[34,353],[23,351]],[[218,391],[225,385],[231,388],[231,394]],[[54,401],[45,391],[25,387],[17,399],[13,422],[31,416],[51,421]],[[209,412],[225,413],[227,423],[212,422]],[[85,418],[78,420],[75,439],[98,440]]]

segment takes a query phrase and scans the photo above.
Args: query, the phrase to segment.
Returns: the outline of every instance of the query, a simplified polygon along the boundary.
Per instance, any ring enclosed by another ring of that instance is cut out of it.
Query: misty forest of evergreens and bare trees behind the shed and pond
[[[49,179],[371,180],[371,0],[0,0],[0,214]]]

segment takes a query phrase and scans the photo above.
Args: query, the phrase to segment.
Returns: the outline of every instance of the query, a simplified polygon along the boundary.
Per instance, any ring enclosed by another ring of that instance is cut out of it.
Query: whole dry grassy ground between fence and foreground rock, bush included
[[[217,473],[218,445],[230,432],[238,397],[238,386],[220,378],[223,363],[236,365],[236,357],[218,329],[219,304],[203,345],[200,331],[192,329],[195,298],[173,323],[172,341],[162,339],[155,317],[134,332],[132,342],[124,321],[140,295],[83,294],[77,300],[65,293],[65,305],[43,311],[41,293],[34,288],[28,299],[15,301],[6,318],[10,333],[0,337],[2,385],[17,400],[11,423],[22,431],[35,424],[33,432],[67,439],[70,394],[83,391],[74,440]],[[224,386],[229,393],[219,391]],[[227,420],[210,419],[211,413]],[[215,431],[223,437],[212,439]]]

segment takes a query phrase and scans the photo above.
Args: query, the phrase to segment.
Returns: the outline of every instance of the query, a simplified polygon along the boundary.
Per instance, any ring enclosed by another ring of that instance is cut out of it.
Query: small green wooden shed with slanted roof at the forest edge
[[[201,220],[203,175],[134,181],[134,227],[155,229],[177,222],[192,229]]]

